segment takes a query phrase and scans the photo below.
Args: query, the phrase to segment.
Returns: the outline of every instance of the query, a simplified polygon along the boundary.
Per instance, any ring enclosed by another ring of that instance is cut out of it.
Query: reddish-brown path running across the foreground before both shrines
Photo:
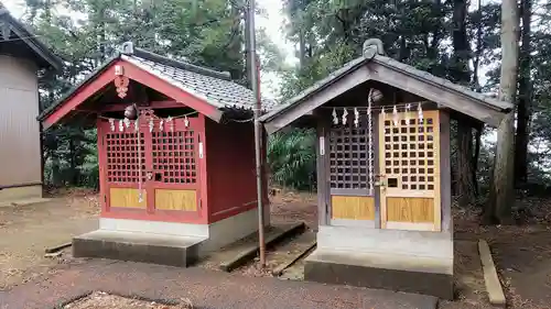
[[[68,266],[47,280],[0,291],[0,308],[52,308],[93,290],[149,299],[188,299],[195,308],[435,308],[433,297],[421,295],[101,260]]]

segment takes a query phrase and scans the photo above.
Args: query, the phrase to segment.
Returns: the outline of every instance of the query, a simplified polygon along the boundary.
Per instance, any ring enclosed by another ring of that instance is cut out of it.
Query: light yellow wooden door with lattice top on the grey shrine
[[[379,115],[381,228],[440,231],[439,111]]]

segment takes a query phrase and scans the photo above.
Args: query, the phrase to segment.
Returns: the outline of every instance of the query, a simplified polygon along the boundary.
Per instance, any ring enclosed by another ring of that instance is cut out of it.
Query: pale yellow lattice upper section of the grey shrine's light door
[[[431,117],[401,119],[398,125],[391,119],[385,120],[385,173],[399,175],[401,189],[434,190],[434,125]]]

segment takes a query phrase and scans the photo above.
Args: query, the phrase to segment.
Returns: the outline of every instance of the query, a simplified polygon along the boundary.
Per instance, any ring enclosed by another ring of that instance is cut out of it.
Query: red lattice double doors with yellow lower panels
[[[139,132],[133,121],[127,125],[100,120],[105,209],[129,210],[138,219],[148,218],[144,213],[168,220],[185,219],[186,213],[197,217],[203,147],[197,128],[197,118],[168,123],[149,113],[140,115]]]

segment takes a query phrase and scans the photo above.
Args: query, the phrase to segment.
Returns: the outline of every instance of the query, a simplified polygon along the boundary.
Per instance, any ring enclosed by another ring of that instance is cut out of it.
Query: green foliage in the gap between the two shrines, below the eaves
[[[293,189],[315,187],[315,131],[296,129],[268,140],[272,181]]]

